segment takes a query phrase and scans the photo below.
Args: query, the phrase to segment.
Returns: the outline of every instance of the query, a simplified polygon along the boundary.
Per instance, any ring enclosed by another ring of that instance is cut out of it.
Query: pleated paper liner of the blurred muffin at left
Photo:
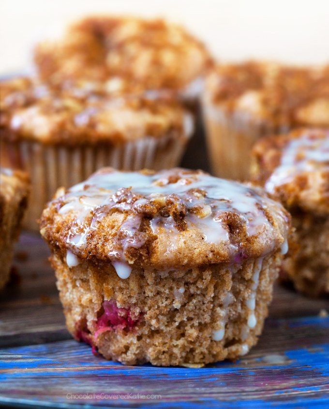
[[[31,194],[23,227],[38,230],[36,220],[57,188],[75,185],[104,166],[124,171],[177,166],[190,135],[189,131],[186,135],[172,133],[161,138],[145,137],[119,146],[100,143],[75,147],[3,139],[1,157],[6,165],[30,174]]]

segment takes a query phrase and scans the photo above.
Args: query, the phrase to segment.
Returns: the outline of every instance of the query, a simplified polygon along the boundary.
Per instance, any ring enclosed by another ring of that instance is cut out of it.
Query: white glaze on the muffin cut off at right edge
[[[329,170],[329,138],[305,134],[287,144],[280,166],[271,174],[265,188],[274,193],[277,186],[291,182],[299,173],[314,172],[319,167]]]

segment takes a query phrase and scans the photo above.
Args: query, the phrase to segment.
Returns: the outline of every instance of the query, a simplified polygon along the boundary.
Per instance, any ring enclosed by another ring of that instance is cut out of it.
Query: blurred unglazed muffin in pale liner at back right
[[[203,115],[213,172],[247,180],[251,149],[260,137],[329,126],[329,66],[217,66],[206,79]]]

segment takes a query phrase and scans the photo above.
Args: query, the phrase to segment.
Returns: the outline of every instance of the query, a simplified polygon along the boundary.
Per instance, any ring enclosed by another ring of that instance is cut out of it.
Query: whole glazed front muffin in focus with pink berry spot
[[[76,339],[125,364],[183,365],[257,342],[289,215],[201,171],[105,168],[58,190],[40,226]]]

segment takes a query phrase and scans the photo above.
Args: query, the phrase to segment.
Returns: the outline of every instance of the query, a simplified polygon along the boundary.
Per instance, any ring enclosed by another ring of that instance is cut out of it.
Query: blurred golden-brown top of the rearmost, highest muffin
[[[129,79],[144,89],[183,89],[211,64],[206,47],[164,20],[93,16],[76,22],[58,42],[36,47],[41,77]]]

